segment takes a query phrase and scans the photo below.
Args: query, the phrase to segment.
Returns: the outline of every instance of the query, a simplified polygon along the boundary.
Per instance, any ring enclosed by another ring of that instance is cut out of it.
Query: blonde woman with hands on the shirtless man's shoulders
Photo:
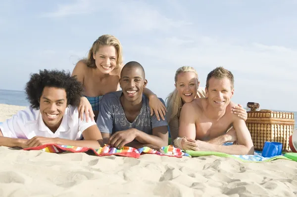
[[[171,144],[178,137],[179,116],[184,103],[193,101],[195,98],[205,98],[204,88],[199,87],[198,73],[190,66],[179,68],[174,77],[175,89],[167,97],[167,121],[169,124]],[[247,120],[247,111],[238,105],[233,109],[234,114]]]

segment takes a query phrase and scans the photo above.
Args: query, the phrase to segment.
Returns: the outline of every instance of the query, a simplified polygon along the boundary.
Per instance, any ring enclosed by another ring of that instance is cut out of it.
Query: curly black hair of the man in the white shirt
[[[25,87],[27,100],[32,108],[39,109],[40,97],[45,87],[65,89],[67,106],[78,106],[83,91],[82,83],[76,79],[76,76],[71,77],[70,72],[40,70],[39,73],[31,74],[31,78]]]

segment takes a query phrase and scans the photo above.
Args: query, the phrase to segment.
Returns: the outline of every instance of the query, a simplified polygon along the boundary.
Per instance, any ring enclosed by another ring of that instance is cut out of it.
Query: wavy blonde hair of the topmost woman
[[[117,38],[111,35],[102,35],[97,40],[95,40],[89,50],[88,58],[86,59],[87,66],[90,68],[96,68],[96,63],[93,55],[96,54],[97,51],[99,51],[100,45],[114,46],[117,52],[115,69],[120,68],[120,65],[123,63],[122,45]]]

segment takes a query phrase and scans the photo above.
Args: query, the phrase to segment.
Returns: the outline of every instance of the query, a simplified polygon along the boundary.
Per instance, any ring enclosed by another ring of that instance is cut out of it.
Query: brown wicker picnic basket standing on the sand
[[[290,151],[289,137],[294,132],[294,113],[259,110],[258,103],[248,102],[247,128],[255,150],[263,150],[265,141],[283,144],[283,151]]]

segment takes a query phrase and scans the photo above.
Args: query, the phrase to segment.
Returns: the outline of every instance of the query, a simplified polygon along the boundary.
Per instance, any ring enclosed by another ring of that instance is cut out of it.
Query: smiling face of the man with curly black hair
[[[45,87],[40,97],[40,113],[50,130],[56,130],[67,107],[66,91],[57,87]]]

